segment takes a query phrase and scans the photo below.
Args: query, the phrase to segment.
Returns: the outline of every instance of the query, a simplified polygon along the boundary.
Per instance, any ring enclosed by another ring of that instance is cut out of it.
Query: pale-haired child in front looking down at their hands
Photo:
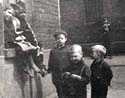
[[[90,80],[90,68],[84,64],[82,47],[73,45],[69,50],[71,65],[63,74],[66,98],[87,98],[87,84]]]

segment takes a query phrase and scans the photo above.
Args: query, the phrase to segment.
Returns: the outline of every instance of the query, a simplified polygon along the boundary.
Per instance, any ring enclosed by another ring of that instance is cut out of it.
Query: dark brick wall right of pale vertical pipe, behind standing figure
[[[61,27],[69,33],[69,43],[101,42],[102,18],[112,25],[112,41],[125,41],[124,0],[60,0]]]

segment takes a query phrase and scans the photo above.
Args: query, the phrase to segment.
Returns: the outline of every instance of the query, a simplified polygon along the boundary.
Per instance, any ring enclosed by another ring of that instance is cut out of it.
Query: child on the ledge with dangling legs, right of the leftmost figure
[[[24,3],[22,2],[20,4]],[[13,22],[16,38],[13,43],[15,44],[17,58],[23,59],[22,61],[25,65],[24,72],[30,77],[33,77],[33,71],[40,73],[40,69],[33,60],[33,53],[38,50],[39,46],[34,32],[25,20],[26,13],[25,10],[23,10],[25,8],[19,4],[16,4],[16,6],[18,7],[18,10],[16,10],[14,14],[16,21]]]

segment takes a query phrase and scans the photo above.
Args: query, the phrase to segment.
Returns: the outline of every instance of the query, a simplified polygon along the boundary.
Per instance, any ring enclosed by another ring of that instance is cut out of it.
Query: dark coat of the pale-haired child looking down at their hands
[[[87,97],[87,84],[90,81],[90,68],[81,60],[78,64],[73,64],[65,69],[71,74],[81,76],[81,80],[69,77],[64,79],[63,91],[71,98],[86,98]]]

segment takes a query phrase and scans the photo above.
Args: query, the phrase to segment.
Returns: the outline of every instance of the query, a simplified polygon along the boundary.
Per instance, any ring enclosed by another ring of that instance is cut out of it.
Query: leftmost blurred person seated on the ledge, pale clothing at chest
[[[5,48],[14,48],[14,42],[18,33],[16,28],[20,27],[20,21],[15,17],[18,7],[10,4],[4,10],[4,42]]]

